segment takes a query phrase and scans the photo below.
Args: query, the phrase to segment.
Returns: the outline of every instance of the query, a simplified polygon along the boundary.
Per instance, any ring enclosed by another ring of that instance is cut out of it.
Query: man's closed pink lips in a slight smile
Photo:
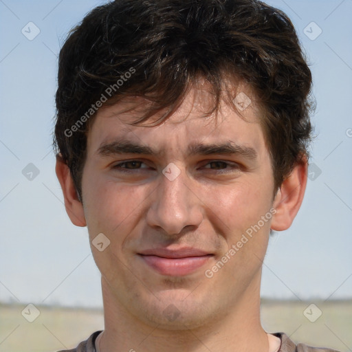
[[[138,255],[153,270],[166,276],[185,276],[202,267],[212,256],[196,248],[155,248]]]

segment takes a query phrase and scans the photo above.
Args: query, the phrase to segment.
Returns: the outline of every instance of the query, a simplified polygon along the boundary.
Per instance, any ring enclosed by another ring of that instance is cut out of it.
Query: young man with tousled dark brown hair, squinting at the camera
[[[56,174],[105,327],[72,351],[316,351],[259,311],[270,232],[303,201],[310,89],[292,23],[259,1],[118,0],[74,28]]]

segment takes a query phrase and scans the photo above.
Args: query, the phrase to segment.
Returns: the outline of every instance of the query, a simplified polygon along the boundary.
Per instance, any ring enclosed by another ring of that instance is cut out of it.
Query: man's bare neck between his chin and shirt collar
[[[221,318],[210,318],[194,329],[170,330],[146,325],[130,314],[102,278],[105,329],[98,340],[100,352],[269,351],[267,333],[261,327],[259,293],[260,276]]]

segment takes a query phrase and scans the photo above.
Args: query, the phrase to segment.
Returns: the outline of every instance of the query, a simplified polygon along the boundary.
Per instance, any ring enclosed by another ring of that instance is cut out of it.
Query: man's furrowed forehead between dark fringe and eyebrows
[[[151,144],[160,150],[188,148],[195,142],[226,142],[261,148],[265,144],[261,128],[261,113],[248,87],[239,86],[229,102],[223,98],[219,109],[210,115],[213,97],[206,89],[191,89],[175,112],[155,125],[165,111],[159,111],[139,126],[150,102],[140,97],[128,97],[98,110],[88,134],[88,148],[95,151],[102,144],[121,137],[139,144]],[[153,125],[154,124],[154,125]]]

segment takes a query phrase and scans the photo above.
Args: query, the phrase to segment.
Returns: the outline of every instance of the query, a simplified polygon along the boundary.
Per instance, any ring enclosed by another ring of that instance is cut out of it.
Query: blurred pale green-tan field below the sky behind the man
[[[294,342],[352,351],[352,300],[314,302],[322,311],[310,322],[302,302],[262,302],[263,327],[284,331]],[[0,352],[52,352],[76,347],[78,342],[104,327],[102,311],[38,307],[40,315],[30,323],[21,315],[23,306],[0,305]]]

